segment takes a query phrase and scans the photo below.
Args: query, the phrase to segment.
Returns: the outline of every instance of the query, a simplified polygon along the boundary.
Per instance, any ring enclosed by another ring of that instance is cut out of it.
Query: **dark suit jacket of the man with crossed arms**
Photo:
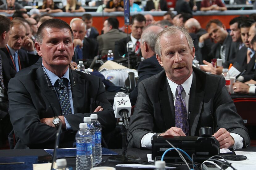
[[[114,130],[116,119],[102,81],[93,75],[74,70],[72,72],[76,83],[72,89],[75,114],[65,115],[72,130],[62,130],[59,147],[73,147],[79,123],[83,122],[84,117],[90,116],[99,105],[104,110],[93,114],[98,115],[102,125],[102,145],[107,147],[105,140],[108,133]],[[71,71],[69,77],[73,84]],[[56,93],[47,85],[42,67],[12,78],[8,96],[10,120],[16,137],[15,148],[53,148],[57,129],[40,123],[40,119],[62,115],[62,112]]]

